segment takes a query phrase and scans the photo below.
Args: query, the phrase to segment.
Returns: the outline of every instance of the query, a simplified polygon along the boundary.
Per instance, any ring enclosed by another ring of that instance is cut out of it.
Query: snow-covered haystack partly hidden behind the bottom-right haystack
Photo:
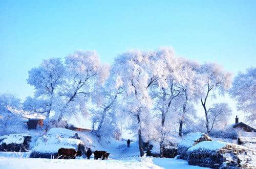
[[[189,133],[178,144],[178,154],[181,159],[187,159],[187,150],[202,141],[211,141],[212,139],[204,133]]]

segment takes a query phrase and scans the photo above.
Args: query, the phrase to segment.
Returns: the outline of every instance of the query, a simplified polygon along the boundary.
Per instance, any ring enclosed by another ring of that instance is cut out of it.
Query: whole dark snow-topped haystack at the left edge
[[[0,151],[28,152],[31,136],[28,134],[9,134],[0,137]]]

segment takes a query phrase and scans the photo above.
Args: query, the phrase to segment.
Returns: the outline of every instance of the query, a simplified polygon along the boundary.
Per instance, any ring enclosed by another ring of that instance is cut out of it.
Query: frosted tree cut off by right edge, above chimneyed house
[[[237,109],[246,113],[250,122],[256,120],[256,68],[251,67],[246,73],[239,73],[229,91],[231,98],[237,100]]]

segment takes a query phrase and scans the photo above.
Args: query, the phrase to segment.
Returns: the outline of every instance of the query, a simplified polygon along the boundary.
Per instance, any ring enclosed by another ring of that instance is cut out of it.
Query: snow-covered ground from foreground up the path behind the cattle
[[[61,132],[58,131],[60,134]],[[53,134],[55,133],[48,133]],[[110,152],[108,160],[94,160],[93,156],[87,159],[43,159],[28,158],[29,153],[0,152],[0,168],[203,168],[188,165],[187,161],[169,158],[139,157],[138,142],[131,142],[130,148],[125,141],[108,140],[97,141],[97,137],[91,133],[78,132],[79,136],[92,150],[105,150]],[[65,137],[62,135],[62,137]]]

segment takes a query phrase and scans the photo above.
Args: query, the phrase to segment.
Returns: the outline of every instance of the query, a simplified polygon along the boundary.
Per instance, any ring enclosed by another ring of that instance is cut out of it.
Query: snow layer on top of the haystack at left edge
[[[22,133],[22,134],[9,134],[9,135],[4,135],[0,137],[0,144],[6,143],[16,143],[16,144],[22,144],[24,143],[24,138],[30,136],[28,134]]]

